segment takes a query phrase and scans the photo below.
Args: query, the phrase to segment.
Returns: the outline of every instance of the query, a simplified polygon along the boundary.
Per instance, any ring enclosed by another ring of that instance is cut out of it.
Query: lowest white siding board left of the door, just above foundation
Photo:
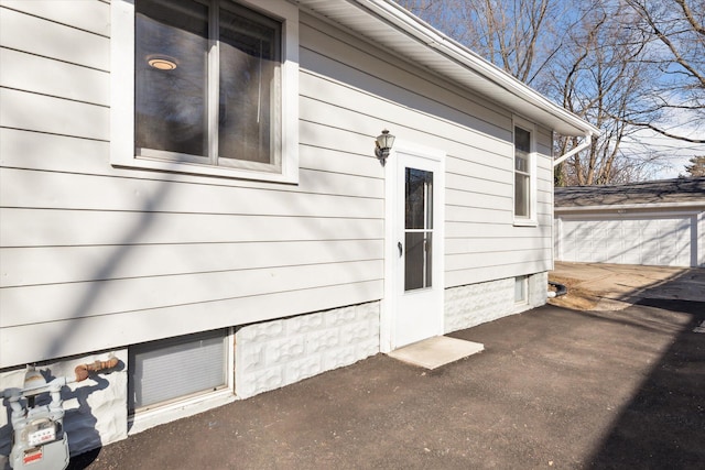
[[[250,324],[291,315],[292,306],[305,311],[323,310],[330,304],[330,297],[340,305],[352,305],[360,297],[379,298],[381,289],[381,281],[358,282],[3,328],[0,335],[2,367],[34,362],[37,354],[59,358],[78,350],[110,349],[126,339],[143,342],[158,336],[180,336],[193,330],[195,325],[203,326],[204,319],[223,325],[235,320]],[[36,345],[36,338],[43,339],[41,345]]]

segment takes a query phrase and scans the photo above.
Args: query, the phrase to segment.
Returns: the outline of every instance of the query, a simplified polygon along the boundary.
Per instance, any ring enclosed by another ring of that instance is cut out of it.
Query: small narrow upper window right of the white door
[[[514,220],[534,218],[533,127],[514,123]]]

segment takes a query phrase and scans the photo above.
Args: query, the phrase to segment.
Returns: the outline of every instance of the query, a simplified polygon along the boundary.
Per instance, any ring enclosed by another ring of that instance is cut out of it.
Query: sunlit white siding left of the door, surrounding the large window
[[[381,298],[367,135],[302,119],[295,186],[113,168],[109,4],[10,3],[0,367]]]

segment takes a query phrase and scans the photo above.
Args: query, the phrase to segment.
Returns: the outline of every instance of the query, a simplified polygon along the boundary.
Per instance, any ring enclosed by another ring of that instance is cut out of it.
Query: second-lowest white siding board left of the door
[[[4,288],[0,327],[119,315],[272,293],[375,281],[381,260],[221,270]],[[197,287],[197,288],[194,288]],[[51,308],[50,308],[51,306]],[[234,319],[237,319],[235,316]]]

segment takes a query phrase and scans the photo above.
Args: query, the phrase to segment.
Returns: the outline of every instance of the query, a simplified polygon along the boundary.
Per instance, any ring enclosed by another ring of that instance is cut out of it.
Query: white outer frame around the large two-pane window
[[[195,175],[299,183],[299,9],[283,0],[238,4],[282,22],[281,172],[154,160],[135,155],[134,0],[112,0],[110,40],[110,163]]]

